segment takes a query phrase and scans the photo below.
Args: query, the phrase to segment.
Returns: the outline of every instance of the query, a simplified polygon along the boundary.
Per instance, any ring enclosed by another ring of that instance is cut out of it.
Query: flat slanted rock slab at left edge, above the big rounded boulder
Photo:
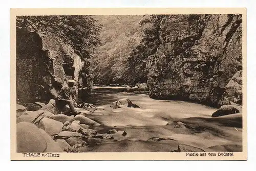
[[[43,110],[26,111],[23,115],[17,117],[16,122],[20,123],[22,121],[26,121],[28,123],[32,123],[32,121],[38,121],[42,116],[51,117],[52,115],[52,113]]]

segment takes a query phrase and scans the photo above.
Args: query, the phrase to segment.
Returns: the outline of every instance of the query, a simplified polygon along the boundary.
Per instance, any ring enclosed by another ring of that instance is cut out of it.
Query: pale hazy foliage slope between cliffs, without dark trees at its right
[[[94,58],[95,82],[128,84],[131,75],[127,59],[140,41],[140,15],[95,16],[102,24],[100,46]]]

